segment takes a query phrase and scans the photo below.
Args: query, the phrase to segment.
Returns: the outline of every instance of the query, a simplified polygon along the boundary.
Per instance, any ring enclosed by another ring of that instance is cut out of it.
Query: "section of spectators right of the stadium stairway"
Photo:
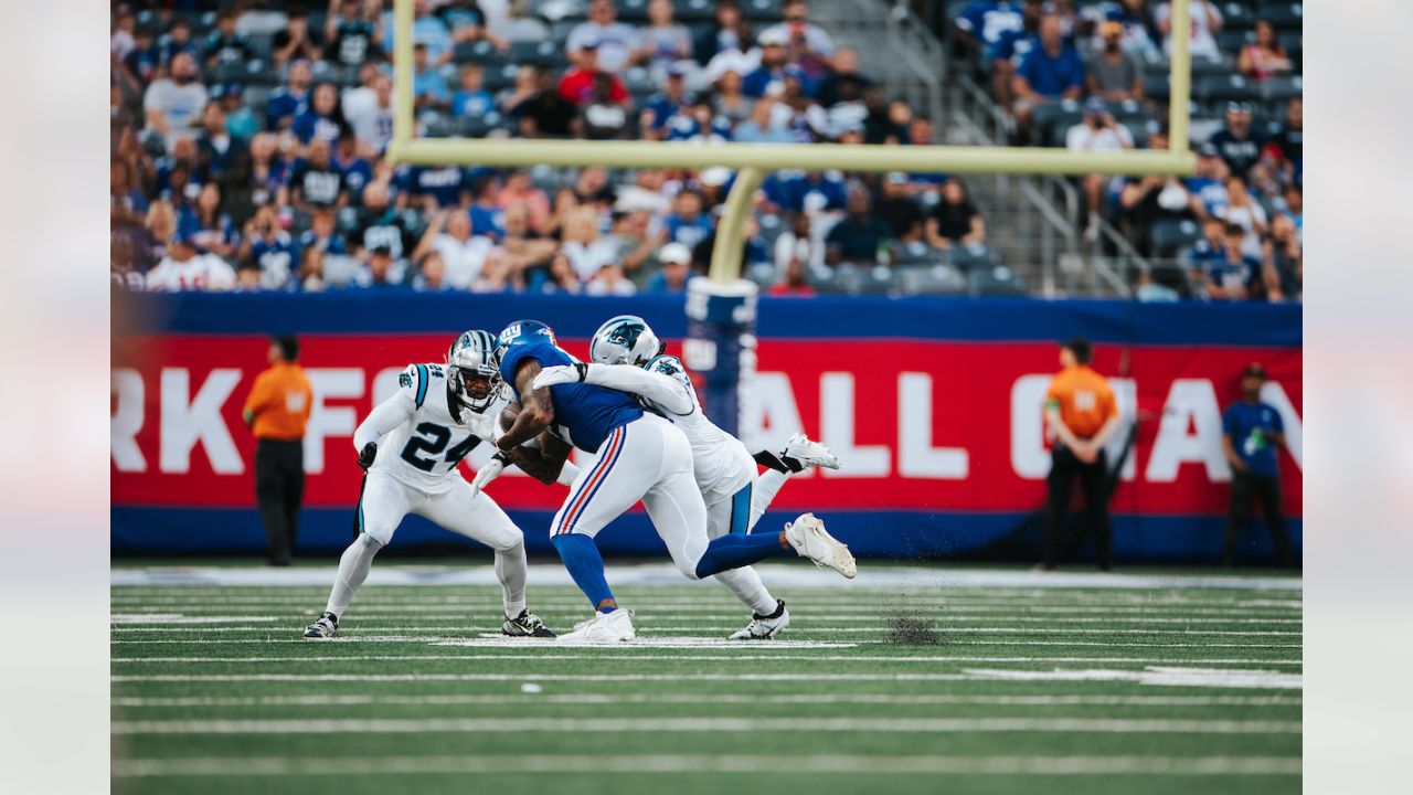
[[[1299,300],[1301,4],[1191,0],[1190,16],[1197,174],[1082,180],[1085,233],[1108,218],[1143,255],[1183,263],[1171,286],[1146,280],[1140,296]],[[951,21],[1015,120],[1013,143],[1167,149],[1170,3],[982,0]]]

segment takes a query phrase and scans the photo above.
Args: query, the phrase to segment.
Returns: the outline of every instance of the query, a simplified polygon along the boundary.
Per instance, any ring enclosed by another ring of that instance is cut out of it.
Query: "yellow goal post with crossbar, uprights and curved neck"
[[[1191,174],[1188,141],[1191,52],[1187,35],[1173,35],[1169,72],[1169,149],[1109,153],[1058,147],[750,144],[588,141],[524,139],[418,139],[413,119],[413,3],[393,0],[393,139],[394,166],[603,166],[608,168],[736,170],[736,181],[718,226],[711,279],[740,277],[740,242],[756,190],[769,171],[940,171],[948,174]],[[1186,31],[1188,0],[1173,1],[1171,30]]]

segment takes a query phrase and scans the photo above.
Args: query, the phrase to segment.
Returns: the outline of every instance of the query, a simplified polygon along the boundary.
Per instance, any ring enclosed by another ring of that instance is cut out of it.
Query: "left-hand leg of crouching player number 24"
[[[393,533],[414,501],[415,492],[397,478],[379,470],[366,475],[362,497],[355,508],[357,536],[339,557],[339,570],[333,577],[329,601],[318,621],[304,629],[305,638],[322,639],[335,635],[339,618],[367,579],[373,556],[393,540]]]

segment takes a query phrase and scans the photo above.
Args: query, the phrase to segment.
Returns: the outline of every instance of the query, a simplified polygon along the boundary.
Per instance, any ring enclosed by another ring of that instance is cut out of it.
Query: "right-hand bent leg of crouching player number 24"
[[[554,637],[540,617],[526,607],[524,535],[490,495],[472,494],[471,484],[452,475],[452,485],[447,492],[428,499],[414,512],[495,550],[496,579],[500,580],[506,607],[502,632],[510,637]]]

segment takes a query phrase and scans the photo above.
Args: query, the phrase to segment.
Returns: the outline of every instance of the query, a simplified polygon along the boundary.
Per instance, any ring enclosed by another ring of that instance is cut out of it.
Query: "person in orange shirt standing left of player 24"
[[[270,338],[270,369],[256,376],[242,416],[256,434],[256,501],[271,566],[288,566],[304,501],[304,429],[314,392],[298,365],[300,341]]]

